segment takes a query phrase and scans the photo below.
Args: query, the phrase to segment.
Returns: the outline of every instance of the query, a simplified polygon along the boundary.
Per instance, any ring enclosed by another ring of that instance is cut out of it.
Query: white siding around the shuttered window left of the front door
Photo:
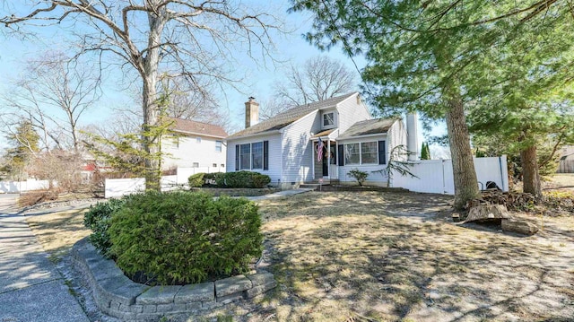
[[[269,170],[254,170],[262,174],[266,174],[271,178],[272,184],[277,184],[281,177],[282,172],[282,148],[281,148],[281,134],[274,135],[257,135],[245,138],[230,139],[227,141],[227,172],[235,172],[235,145],[237,144],[252,144],[256,142],[269,141]]]

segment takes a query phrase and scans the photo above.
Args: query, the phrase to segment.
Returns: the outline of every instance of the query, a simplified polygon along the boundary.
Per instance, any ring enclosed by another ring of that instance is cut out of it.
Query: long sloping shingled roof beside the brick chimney
[[[249,126],[248,128],[241,130],[238,133],[230,135],[228,136],[228,139],[245,135],[256,135],[265,132],[280,130],[283,127],[288,126],[291,123],[295,122],[296,120],[300,119],[301,117],[308,115],[310,112],[314,110],[334,108],[337,104],[352,97],[352,95],[355,95],[356,93],[357,92],[355,91],[342,96],[337,96],[326,100],[319,100],[313,103],[300,105],[292,109],[288,109],[283,113],[279,113],[274,117],[271,117],[269,119],[266,119],[265,121],[257,123],[255,126]]]

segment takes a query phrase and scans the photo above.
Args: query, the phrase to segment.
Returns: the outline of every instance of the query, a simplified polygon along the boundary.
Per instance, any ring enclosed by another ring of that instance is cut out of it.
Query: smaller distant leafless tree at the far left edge
[[[4,97],[9,109],[4,122],[7,116],[30,119],[46,149],[71,147],[78,152],[78,121],[100,98],[99,84],[100,78],[77,61],[62,53],[45,53],[28,62],[25,74]]]

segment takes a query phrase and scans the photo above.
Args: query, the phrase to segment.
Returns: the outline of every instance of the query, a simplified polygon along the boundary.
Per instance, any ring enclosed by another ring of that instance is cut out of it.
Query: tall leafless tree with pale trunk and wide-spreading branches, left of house
[[[38,0],[30,11],[13,10],[0,19],[17,30],[23,23],[74,23],[80,39],[78,54],[96,51],[113,54],[122,67],[129,66],[142,82],[143,133],[160,120],[158,81],[181,77],[189,83],[201,78],[232,79],[222,74],[222,58],[245,45],[249,56],[261,49],[268,54],[274,17],[250,13],[239,2],[201,3],[180,0]],[[145,135],[143,149],[157,153],[156,137]],[[145,161],[146,187],[159,189],[159,161]]]

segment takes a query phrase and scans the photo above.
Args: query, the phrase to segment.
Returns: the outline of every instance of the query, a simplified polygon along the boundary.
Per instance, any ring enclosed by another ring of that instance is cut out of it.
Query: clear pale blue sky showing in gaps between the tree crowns
[[[224,111],[229,111],[233,127],[237,129],[242,127],[245,119],[244,102],[248,97],[254,96],[259,101],[268,98],[272,94],[273,84],[281,81],[284,68],[290,64],[300,65],[311,57],[325,55],[344,63],[357,73],[357,80],[361,80],[357,68],[361,69],[366,65],[364,59],[355,57],[352,60],[343,54],[341,48],[321,52],[302,38],[302,34],[311,28],[312,21],[309,15],[287,13],[289,5],[287,1],[250,0],[243,1],[243,3],[265,8],[265,11],[278,16],[285,23],[284,29],[290,30],[290,32],[276,35],[277,37],[273,39],[276,50],[272,55],[276,63],[269,59],[254,61],[248,58],[245,53],[238,53],[238,57],[235,57],[241,65],[236,73],[240,77],[246,76],[248,82],[239,84],[237,89],[232,86],[223,86],[218,92],[220,105]],[[0,16],[4,16],[2,9],[0,7]],[[11,88],[11,83],[22,73],[22,67],[27,60],[37,58],[39,53],[45,52],[48,48],[52,50],[67,48],[68,44],[61,42],[62,39],[65,39],[64,34],[65,31],[49,29],[39,30],[39,37],[36,39],[21,39],[0,34],[0,74],[3,75],[3,80],[0,82],[0,95]],[[132,98],[132,93],[121,90],[117,86],[117,82],[113,80],[117,75],[111,74],[110,76],[109,82],[103,86],[103,97],[100,102],[83,116],[81,122],[84,126],[91,123],[106,122],[109,119],[111,109],[137,104]],[[359,91],[359,83],[357,83],[355,90]],[[419,144],[421,144],[423,140],[422,126],[419,128]],[[436,133],[440,133],[440,131]],[[438,135],[436,133],[433,135]],[[0,149],[5,147],[6,140],[4,137],[0,137]]]

